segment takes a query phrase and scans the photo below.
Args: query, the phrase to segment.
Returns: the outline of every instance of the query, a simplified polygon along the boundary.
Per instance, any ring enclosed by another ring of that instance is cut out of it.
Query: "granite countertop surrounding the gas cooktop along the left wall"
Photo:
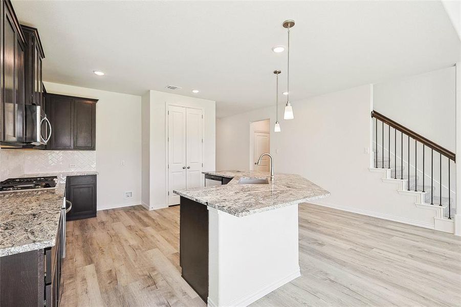
[[[57,176],[55,188],[0,193],[0,257],[56,244],[59,216],[67,176],[95,171],[25,174],[21,177]]]

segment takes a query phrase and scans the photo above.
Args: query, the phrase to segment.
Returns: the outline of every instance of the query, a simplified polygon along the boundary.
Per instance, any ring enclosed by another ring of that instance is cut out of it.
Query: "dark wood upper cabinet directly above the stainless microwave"
[[[41,70],[45,53],[43,53],[38,30],[25,25],[21,25],[21,29],[27,41],[27,48],[25,51],[26,61],[24,63],[26,103],[43,107],[43,80]]]

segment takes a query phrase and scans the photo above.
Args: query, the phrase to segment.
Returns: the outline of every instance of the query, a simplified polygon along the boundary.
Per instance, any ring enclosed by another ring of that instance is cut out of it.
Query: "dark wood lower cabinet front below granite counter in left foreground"
[[[59,305],[65,235],[60,226],[61,221],[55,246],[0,257],[0,307]]]

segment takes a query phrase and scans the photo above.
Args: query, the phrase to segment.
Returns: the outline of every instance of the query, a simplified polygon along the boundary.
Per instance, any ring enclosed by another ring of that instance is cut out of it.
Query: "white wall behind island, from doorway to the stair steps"
[[[371,85],[293,102],[294,120],[271,129],[275,172],[297,173],[331,192],[322,203],[416,225],[434,223],[413,196],[399,195],[368,170],[371,133]],[[282,114],[283,105],[279,114]],[[271,119],[275,106],[222,118],[216,127],[216,169],[248,169],[250,122]],[[301,204],[302,206],[302,204]]]

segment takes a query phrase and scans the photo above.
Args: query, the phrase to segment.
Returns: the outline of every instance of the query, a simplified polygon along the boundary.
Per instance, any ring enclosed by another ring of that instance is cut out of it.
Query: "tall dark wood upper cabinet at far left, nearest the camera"
[[[1,2],[0,142],[24,141],[25,37],[11,2]]]

